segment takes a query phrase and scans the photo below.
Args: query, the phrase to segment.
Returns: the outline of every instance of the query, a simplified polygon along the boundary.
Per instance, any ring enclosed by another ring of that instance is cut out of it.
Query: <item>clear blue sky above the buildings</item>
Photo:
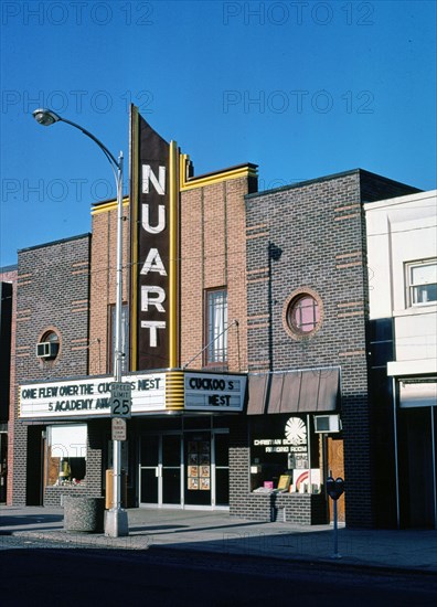
[[[259,166],[265,190],[363,168],[436,188],[436,2],[8,2],[1,8],[0,266],[90,230],[115,196],[79,131],[128,156],[128,106],[195,174]],[[125,191],[127,192],[127,173]]]

